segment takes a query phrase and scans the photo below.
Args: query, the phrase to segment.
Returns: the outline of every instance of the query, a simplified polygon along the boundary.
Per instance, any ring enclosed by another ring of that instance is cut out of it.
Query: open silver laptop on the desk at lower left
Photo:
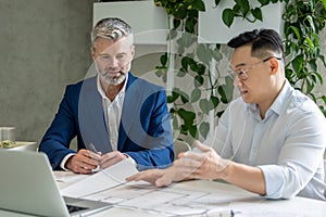
[[[60,194],[45,153],[0,151],[0,209],[36,216],[88,216],[109,203]]]

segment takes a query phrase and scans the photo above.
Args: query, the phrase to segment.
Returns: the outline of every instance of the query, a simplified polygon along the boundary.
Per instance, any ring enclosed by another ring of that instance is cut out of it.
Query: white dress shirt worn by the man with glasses
[[[325,129],[316,104],[287,80],[264,119],[258,105],[241,98],[231,102],[220,118],[214,149],[224,158],[260,167],[266,197],[325,200]]]

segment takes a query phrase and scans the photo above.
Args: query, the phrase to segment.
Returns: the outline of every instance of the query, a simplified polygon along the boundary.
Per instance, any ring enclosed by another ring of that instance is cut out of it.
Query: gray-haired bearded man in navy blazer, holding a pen
[[[91,31],[96,76],[67,86],[39,151],[53,169],[90,174],[129,159],[138,169],[173,162],[173,136],[162,87],[135,77],[133,30],[103,18]],[[70,149],[77,137],[77,152]]]

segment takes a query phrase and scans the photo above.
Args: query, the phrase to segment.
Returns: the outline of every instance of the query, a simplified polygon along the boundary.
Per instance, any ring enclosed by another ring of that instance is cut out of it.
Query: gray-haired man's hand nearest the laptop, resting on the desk
[[[98,167],[100,159],[100,154],[82,149],[66,161],[65,168],[76,174],[90,174]]]

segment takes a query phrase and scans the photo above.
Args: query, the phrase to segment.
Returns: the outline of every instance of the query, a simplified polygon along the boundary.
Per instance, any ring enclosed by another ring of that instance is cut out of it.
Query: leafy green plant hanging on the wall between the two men
[[[179,68],[170,73],[174,77],[183,78],[184,82],[191,82],[191,88],[175,86],[167,95],[173,128],[181,135],[205,138],[210,130],[210,118],[223,113],[223,108],[218,112],[216,107],[230,101],[233,85],[229,77],[223,78],[210,67],[212,62],[223,59],[220,44],[197,43],[198,12],[204,11],[204,3],[202,0],[154,2],[158,7],[165,8],[168,23],[172,20],[168,41],[170,48],[176,48],[175,53],[170,51],[161,56],[161,65],[156,66],[155,74],[166,81],[168,64],[174,59]]]

